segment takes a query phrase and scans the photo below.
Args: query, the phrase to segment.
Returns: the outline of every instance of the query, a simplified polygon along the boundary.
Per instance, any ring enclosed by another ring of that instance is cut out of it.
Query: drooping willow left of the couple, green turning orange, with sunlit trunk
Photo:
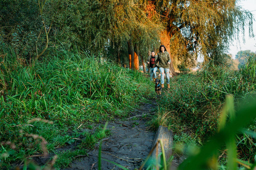
[[[145,43],[157,41],[162,29],[159,19],[148,17],[150,12],[146,1],[88,1],[87,8],[86,33],[90,35],[93,45],[101,49],[109,44],[118,45],[126,41],[131,69],[134,69],[134,55],[137,57],[135,63],[138,63],[138,43],[142,40]]]

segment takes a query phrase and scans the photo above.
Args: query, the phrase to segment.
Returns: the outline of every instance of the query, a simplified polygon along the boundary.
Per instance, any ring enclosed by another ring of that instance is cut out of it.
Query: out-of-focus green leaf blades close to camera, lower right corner
[[[255,114],[255,100],[251,101],[246,107],[242,107],[235,115],[234,114],[234,103],[232,100],[229,101],[228,97],[226,100],[226,109],[222,112],[222,116],[231,117],[230,120],[225,125],[225,120],[220,122],[225,126],[220,127],[217,134],[214,135],[202,148],[199,154],[190,156],[185,160],[180,166],[179,169],[217,169],[217,155],[219,149],[226,144],[228,148],[228,164],[226,165],[227,169],[237,169],[237,162],[243,164],[241,160],[237,160],[236,154],[236,142],[234,139],[235,134],[238,131],[241,131],[243,127],[251,123],[251,120],[256,118]],[[254,133],[255,134],[255,133]],[[254,152],[255,153],[255,152]],[[250,164],[249,167],[255,167],[255,164]],[[246,167],[246,168],[247,168]]]

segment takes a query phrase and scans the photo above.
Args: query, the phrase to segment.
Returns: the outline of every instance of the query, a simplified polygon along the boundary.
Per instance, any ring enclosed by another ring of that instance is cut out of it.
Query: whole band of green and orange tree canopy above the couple
[[[178,60],[188,65],[198,55],[221,63],[229,42],[246,25],[253,36],[253,15],[237,0],[2,1],[1,53],[12,46],[22,58],[35,58],[47,47],[79,46],[124,63],[128,53],[147,57],[148,50],[164,44],[174,73]]]

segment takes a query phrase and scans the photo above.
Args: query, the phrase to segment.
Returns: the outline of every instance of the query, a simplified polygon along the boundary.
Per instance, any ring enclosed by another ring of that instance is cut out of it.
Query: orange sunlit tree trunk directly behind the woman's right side
[[[177,73],[174,70],[174,57],[171,55],[171,48],[170,48],[170,32],[168,31],[163,31],[160,36],[161,44],[166,46],[167,52],[170,54],[171,57],[171,63],[170,63],[170,71],[172,75],[177,75]]]

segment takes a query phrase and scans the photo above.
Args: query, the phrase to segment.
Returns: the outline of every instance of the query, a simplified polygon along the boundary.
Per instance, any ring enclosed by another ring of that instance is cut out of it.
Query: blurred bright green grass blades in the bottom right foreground
[[[198,154],[192,154],[178,169],[254,169],[255,160],[243,160],[237,154],[236,134],[250,134],[255,137],[255,132],[251,133],[245,128],[256,118],[256,100],[238,109],[235,112],[233,96],[227,96],[226,103],[222,108],[220,122],[217,133],[198,150]],[[229,119],[228,119],[229,118]],[[226,163],[218,163],[221,155],[220,150],[227,150]],[[255,148],[254,148],[255,149]],[[245,155],[244,155],[245,156]],[[254,152],[255,156],[255,152]]]

